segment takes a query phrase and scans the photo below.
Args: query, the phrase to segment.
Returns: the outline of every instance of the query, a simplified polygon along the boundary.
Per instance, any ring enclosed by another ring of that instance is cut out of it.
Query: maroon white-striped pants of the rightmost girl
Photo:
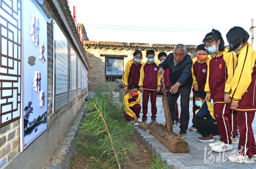
[[[238,151],[251,158],[256,154],[256,144],[253,135],[252,123],[255,112],[237,112],[238,130],[240,133]]]

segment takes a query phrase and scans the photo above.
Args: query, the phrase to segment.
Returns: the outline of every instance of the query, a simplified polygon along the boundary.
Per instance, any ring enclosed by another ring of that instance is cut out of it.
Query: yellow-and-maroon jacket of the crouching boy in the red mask
[[[133,107],[135,104],[140,105],[141,102],[141,93],[138,91],[137,96],[132,96],[129,92],[125,95],[124,97],[124,109],[125,113],[128,114],[129,116],[136,118],[135,113],[130,109]]]

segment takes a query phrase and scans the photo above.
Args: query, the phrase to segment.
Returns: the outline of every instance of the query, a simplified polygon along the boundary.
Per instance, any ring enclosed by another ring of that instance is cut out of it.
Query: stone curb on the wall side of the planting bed
[[[82,126],[82,122],[83,119],[85,119],[86,113],[87,113],[88,109],[85,109],[84,114],[81,118],[80,124],[79,126]],[[75,138],[79,136],[79,132],[80,132],[80,128],[77,128],[77,131],[75,133],[74,138],[71,140],[70,143],[70,147],[68,149],[67,154],[64,156],[64,163],[62,164],[62,169],[71,169],[72,167],[72,162],[74,161],[75,158],[75,148],[74,148],[74,144],[75,144]]]

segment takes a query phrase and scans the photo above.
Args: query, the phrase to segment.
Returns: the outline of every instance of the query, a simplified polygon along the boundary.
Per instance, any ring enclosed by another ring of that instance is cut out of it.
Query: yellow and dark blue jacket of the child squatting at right
[[[205,101],[197,110],[196,117],[204,118],[217,123],[213,114],[213,105],[210,101]]]

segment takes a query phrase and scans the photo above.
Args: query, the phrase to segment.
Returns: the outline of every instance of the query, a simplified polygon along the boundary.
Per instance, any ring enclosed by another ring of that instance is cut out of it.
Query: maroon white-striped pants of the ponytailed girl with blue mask
[[[213,114],[219,129],[219,136],[221,137],[221,141],[225,144],[231,144],[231,132],[229,126],[229,118],[231,116],[230,106],[231,103],[215,103]]]

